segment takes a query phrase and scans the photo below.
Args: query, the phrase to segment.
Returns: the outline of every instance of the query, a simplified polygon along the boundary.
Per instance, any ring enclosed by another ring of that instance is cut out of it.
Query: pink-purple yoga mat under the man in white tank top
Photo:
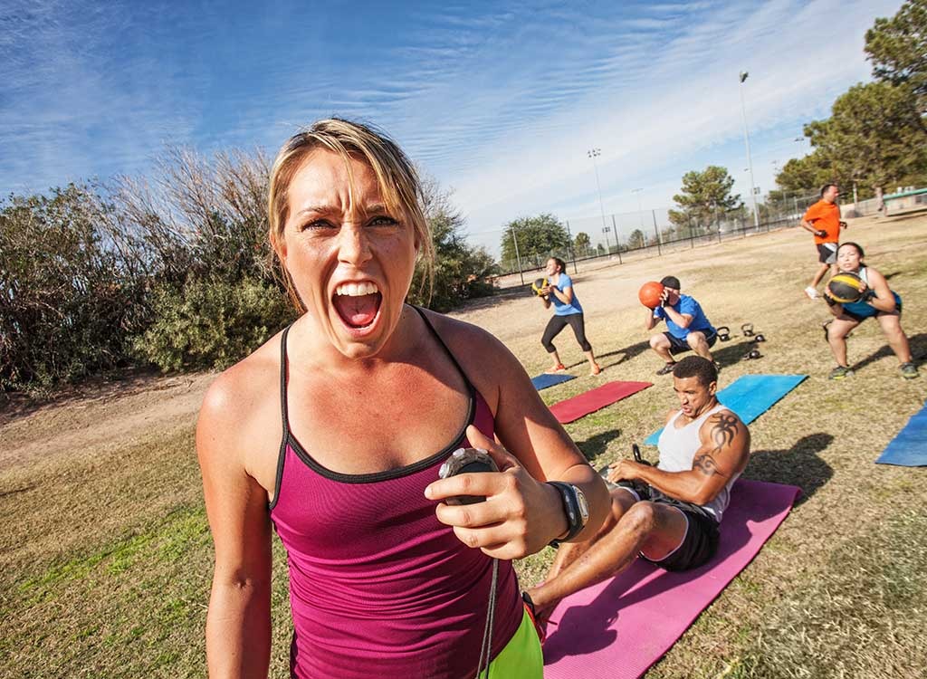
[[[547,628],[544,676],[641,676],[756,557],[799,493],[795,486],[738,480],[717,555],[705,566],[671,573],[638,559],[616,578],[565,598]]]

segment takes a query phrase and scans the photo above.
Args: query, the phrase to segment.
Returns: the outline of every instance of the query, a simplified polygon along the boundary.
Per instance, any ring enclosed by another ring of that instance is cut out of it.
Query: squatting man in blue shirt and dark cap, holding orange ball
[[[689,295],[679,294],[679,278],[675,275],[665,276],[660,283],[663,284],[660,306],[653,311],[647,310],[646,321],[648,330],[653,330],[660,321],[667,322],[666,332],[650,339],[650,348],[666,362],[656,374],[671,373],[676,365],[673,354],[690,349],[717,365],[710,351],[717,341],[717,332],[702,311],[701,304]]]

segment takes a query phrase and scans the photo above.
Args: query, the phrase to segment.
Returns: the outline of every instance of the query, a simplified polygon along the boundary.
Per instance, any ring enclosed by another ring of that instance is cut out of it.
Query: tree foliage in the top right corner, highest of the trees
[[[927,113],[927,0],[908,0],[891,19],[876,19],[866,32],[866,54],[872,75],[907,85]]]

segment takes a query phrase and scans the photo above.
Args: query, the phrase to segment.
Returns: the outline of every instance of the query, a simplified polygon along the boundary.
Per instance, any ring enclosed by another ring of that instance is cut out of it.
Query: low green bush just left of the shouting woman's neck
[[[179,290],[155,288],[151,305],[134,349],[163,371],[228,367],[296,316],[280,288],[250,277],[190,278]]]

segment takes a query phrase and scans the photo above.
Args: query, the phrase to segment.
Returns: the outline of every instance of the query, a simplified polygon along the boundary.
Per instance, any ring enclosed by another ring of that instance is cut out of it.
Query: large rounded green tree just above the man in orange
[[[927,173],[927,132],[907,85],[854,85],[805,134],[844,186],[858,182],[881,196],[884,186]]]

